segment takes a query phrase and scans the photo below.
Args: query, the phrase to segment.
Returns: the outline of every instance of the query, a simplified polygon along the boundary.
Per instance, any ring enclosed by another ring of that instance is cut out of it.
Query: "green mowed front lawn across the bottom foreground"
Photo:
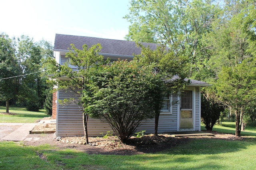
[[[233,124],[225,123],[231,127],[215,126],[214,130],[232,132]],[[89,155],[76,149],[49,145],[30,147],[22,143],[0,142],[0,169],[252,170],[256,167],[254,129],[252,127],[249,136],[242,141],[194,138],[162,152],[138,155],[102,155],[97,152]]]

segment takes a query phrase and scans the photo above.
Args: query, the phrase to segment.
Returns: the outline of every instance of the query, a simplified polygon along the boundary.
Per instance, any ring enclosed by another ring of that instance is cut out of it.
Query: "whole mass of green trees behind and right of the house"
[[[129,9],[127,40],[166,45],[188,57],[188,78],[213,84],[202,89],[208,130],[220,112],[235,115],[237,136],[255,124],[255,0],[131,0]]]

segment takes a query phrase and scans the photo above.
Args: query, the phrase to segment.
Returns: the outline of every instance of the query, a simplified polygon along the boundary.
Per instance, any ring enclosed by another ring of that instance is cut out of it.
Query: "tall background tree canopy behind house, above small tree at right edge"
[[[126,39],[158,42],[188,57],[188,78],[215,84],[203,95],[210,106],[223,105],[214,97],[220,72],[234,71],[256,54],[255,6],[254,0],[131,0]]]

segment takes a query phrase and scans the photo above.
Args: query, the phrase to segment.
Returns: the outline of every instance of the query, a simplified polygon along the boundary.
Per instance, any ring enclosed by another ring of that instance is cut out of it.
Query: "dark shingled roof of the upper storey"
[[[83,37],[76,35],[63,35],[56,34],[54,42],[54,51],[63,51],[71,48],[70,44],[74,44],[76,48],[82,49],[82,45],[86,44],[88,47],[100,43],[102,50],[100,53],[114,54],[114,55],[125,55],[132,56],[133,54],[140,54],[140,48],[136,46],[133,41],[115,40],[115,39],[104,39],[95,37]],[[155,50],[159,44],[155,43],[141,43],[145,47],[150,47]]]

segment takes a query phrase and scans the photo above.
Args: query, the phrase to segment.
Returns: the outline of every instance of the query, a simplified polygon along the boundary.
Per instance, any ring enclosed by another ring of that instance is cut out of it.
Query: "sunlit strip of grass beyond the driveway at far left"
[[[6,107],[0,106],[0,113],[5,111]],[[0,114],[0,123],[34,123],[36,120],[50,117],[44,113],[44,110],[27,111],[22,107],[10,107],[9,113],[16,113],[16,115]]]

